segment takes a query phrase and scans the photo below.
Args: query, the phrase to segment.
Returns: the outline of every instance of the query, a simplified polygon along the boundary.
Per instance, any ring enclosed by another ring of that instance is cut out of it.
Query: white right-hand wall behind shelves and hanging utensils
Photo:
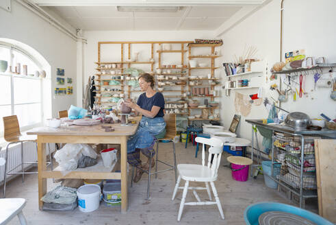
[[[234,55],[241,56],[245,45],[255,46],[258,51],[256,57],[265,59],[272,67],[275,62],[279,62],[280,54],[280,4],[281,0],[273,0],[268,5],[249,16],[242,23],[236,25],[228,32],[222,35],[224,45],[222,47],[223,62],[232,62]],[[335,21],[336,14],[333,10],[336,7],[334,0],[322,1],[284,1],[284,19],[283,19],[283,55],[286,51],[296,49],[305,49],[307,56],[326,56],[328,62],[336,62],[335,53]],[[270,76],[270,74],[268,74]],[[269,90],[272,82],[263,82],[266,91],[266,97],[270,95],[277,98],[278,95]],[[318,88],[317,91],[311,91],[313,86],[313,74],[307,75],[305,91],[309,97],[298,98],[293,102],[292,95],[282,107],[289,111],[306,112],[311,118],[318,117],[321,112],[335,118],[336,102],[330,99],[331,89]],[[239,91],[243,94],[253,94],[257,90]],[[225,110],[224,123],[229,126],[233,115],[234,91],[231,91],[230,97],[222,97]],[[313,98],[313,99],[312,99]],[[240,127],[237,133],[241,137],[250,139],[250,125],[245,119],[267,118],[268,112],[263,106],[253,106],[250,115],[242,117]]]

